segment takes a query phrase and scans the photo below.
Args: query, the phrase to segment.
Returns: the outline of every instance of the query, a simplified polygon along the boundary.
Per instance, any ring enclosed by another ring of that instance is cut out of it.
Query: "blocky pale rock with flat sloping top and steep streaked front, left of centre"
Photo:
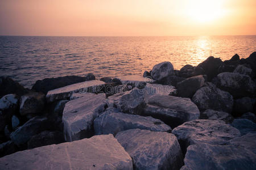
[[[63,124],[65,140],[68,142],[91,137],[94,118],[104,111],[105,94],[90,94],[65,104]]]

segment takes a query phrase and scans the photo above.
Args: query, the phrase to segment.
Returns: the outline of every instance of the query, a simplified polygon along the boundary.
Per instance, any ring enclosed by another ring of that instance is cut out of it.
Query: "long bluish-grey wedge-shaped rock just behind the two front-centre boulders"
[[[115,135],[119,131],[137,128],[151,131],[171,131],[170,126],[158,119],[118,112],[115,108],[108,109],[94,120],[96,135],[110,133]]]

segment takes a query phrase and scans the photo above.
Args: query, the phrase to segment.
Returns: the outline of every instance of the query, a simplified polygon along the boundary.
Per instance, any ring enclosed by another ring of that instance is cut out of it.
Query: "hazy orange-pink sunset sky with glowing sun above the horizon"
[[[0,0],[0,35],[256,35],[255,0]]]

